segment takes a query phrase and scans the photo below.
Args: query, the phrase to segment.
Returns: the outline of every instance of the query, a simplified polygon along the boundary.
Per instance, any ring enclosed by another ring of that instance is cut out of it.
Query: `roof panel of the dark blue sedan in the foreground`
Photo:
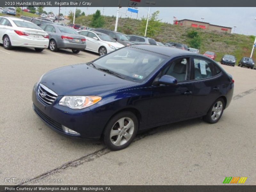
[[[198,56],[198,54],[190,52],[190,51],[177,49],[177,48],[174,48],[174,47],[167,47],[167,46],[135,44],[135,45],[130,45],[129,47],[134,47],[134,48],[142,49],[142,50],[149,51],[149,52],[155,52],[155,53],[165,55],[165,56],[168,56],[168,57],[171,57],[171,56],[174,56],[174,55],[180,55],[180,56],[182,56],[182,55],[195,55],[195,56]],[[203,55],[202,55],[202,57],[207,58]]]

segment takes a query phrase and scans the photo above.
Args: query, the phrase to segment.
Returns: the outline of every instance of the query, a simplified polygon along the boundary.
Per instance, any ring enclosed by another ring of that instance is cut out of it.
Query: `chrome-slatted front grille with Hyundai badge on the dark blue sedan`
[[[51,105],[58,96],[55,92],[41,83],[38,85],[37,95],[40,101],[45,105]]]

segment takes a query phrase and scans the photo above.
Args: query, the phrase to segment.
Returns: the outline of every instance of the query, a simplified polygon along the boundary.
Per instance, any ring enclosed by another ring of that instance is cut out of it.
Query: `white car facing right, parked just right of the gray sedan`
[[[100,54],[100,56],[124,47],[124,45],[117,43],[112,37],[104,33],[88,30],[82,30],[77,32],[80,35],[85,36],[86,38],[85,50],[97,52]]]

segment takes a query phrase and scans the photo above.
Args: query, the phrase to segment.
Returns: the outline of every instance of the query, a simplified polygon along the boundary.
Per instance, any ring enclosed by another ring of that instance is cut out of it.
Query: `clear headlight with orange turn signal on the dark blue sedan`
[[[71,109],[83,109],[99,102],[99,96],[63,96],[59,101],[59,105],[69,107]]]

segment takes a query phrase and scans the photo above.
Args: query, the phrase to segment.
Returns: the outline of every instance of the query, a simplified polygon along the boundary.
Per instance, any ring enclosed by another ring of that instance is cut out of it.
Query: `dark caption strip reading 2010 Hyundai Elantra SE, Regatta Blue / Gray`
[[[252,0],[0,0],[1,7],[256,7]]]

